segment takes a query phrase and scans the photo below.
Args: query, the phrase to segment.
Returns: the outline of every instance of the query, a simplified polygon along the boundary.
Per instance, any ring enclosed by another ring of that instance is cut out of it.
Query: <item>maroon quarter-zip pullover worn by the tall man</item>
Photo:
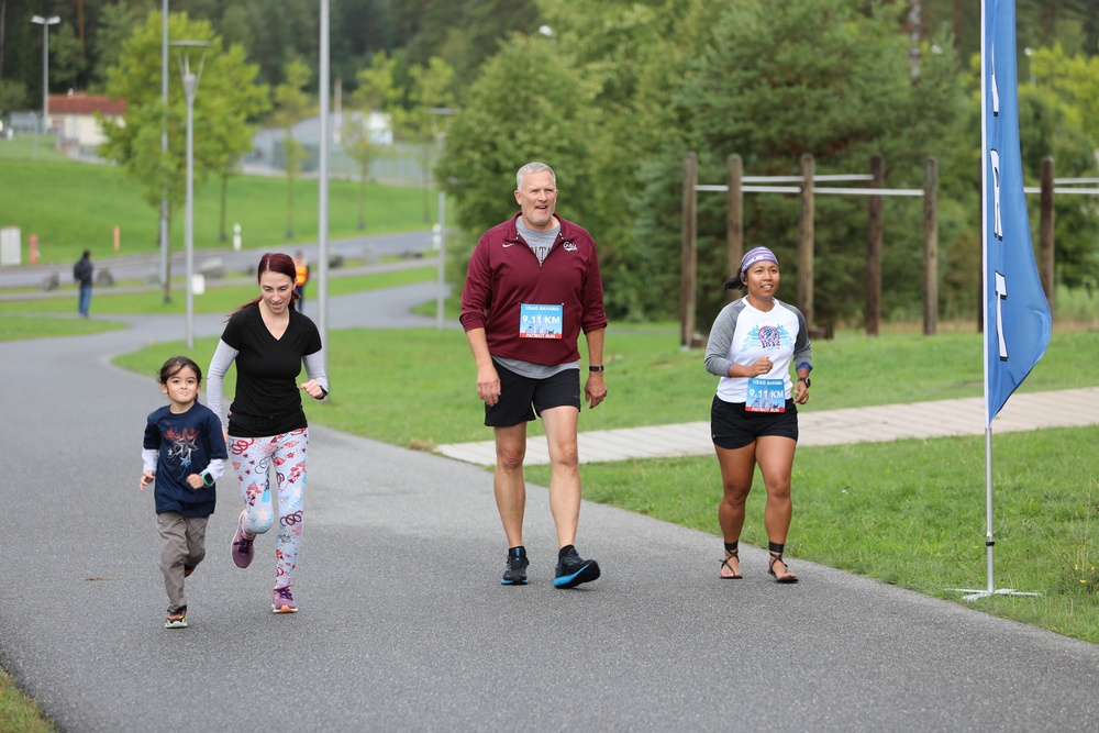
[[[493,356],[556,366],[580,358],[581,332],[607,327],[596,243],[588,231],[554,214],[560,233],[542,266],[519,236],[515,220],[485,232],[462,289],[462,327],[485,329]],[[560,338],[521,338],[523,303],[563,307]]]

